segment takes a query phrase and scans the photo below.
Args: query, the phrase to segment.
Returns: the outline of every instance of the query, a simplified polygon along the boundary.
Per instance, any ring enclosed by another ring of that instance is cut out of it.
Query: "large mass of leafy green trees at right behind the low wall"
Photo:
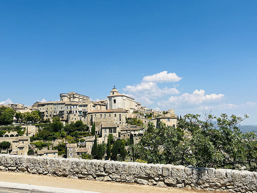
[[[205,121],[199,117],[187,114],[180,118],[177,128],[164,123],[155,128],[149,123],[139,144],[129,146],[128,157],[154,164],[257,170],[256,136],[253,132],[242,134],[237,127],[247,115],[221,114],[217,118],[205,114]]]

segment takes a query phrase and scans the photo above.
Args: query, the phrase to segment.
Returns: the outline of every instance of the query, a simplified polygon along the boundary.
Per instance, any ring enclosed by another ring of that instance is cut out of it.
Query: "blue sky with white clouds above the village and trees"
[[[257,125],[257,1],[1,1],[0,104],[119,93]]]

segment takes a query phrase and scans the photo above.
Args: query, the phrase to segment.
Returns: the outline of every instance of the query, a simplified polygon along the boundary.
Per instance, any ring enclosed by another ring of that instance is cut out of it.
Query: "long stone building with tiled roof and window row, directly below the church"
[[[96,126],[101,126],[103,122],[111,122],[120,126],[126,123],[127,112],[125,109],[109,109],[101,111],[89,111],[87,116],[87,124],[92,125],[95,122]]]

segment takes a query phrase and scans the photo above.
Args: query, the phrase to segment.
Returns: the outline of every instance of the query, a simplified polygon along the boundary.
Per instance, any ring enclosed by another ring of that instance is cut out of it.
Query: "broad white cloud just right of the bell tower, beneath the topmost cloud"
[[[163,89],[160,89],[157,83],[154,82],[142,82],[133,86],[127,85],[123,90],[129,93],[137,93],[137,95],[147,96],[148,98],[156,98],[167,94],[179,93],[176,88],[164,87]]]

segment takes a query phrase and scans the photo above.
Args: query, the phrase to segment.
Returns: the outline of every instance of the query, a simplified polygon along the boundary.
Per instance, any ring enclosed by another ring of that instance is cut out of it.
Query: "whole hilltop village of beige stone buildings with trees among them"
[[[133,144],[140,141],[148,123],[158,127],[163,122],[176,128],[178,120],[174,109],[146,108],[119,93],[115,86],[106,100],[97,102],[69,92],[61,93],[60,101],[35,102],[31,107],[8,104],[1,108],[15,112],[13,123],[0,127],[0,150],[13,155],[81,158],[95,151],[95,142],[108,149],[108,143],[117,140],[123,140],[126,149],[131,140]],[[109,159],[108,150],[98,158]]]

